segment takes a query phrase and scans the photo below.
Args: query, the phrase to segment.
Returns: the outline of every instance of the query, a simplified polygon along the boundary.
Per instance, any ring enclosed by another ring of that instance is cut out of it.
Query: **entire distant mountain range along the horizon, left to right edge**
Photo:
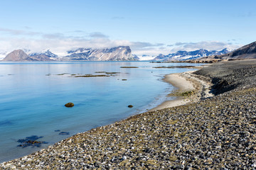
[[[138,61],[138,60],[153,60],[153,61],[169,61],[169,60],[210,60],[210,59],[252,59],[256,58],[256,42],[240,47],[238,50],[228,50],[227,48],[216,51],[195,50],[195,51],[178,51],[169,55],[149,56],[132,55],[132,50],[129,46],[119,46],[112,48],[78,48],[77,50],[67,51],[65,57],[59,57],[53,54],[50,50],[42,52],[31,52],[29,50],[14,50],[6,55],[1,61]]]

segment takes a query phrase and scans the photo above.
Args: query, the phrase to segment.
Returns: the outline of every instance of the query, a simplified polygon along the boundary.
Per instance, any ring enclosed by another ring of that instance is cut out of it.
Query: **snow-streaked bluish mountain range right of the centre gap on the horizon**
[[[193,59],[211,56],[211,55],[223,55],[231,51],[232,50],[228,50],[227,48],[220,51],[216,51],[216,50],[208,51],[204,49],[190,51],[190,52],[178,51],[175,53],[171,53],[169,55],[160,54],[157,57],[155,57],[154,60],[193,60]]]

